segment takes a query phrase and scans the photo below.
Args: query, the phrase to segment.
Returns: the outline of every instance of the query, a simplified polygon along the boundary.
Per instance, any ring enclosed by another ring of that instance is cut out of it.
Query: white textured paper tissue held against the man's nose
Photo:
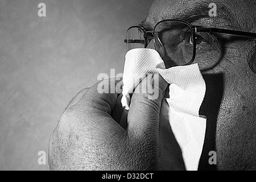
[[[181,148],[188,171],[198,168],[206,129],[206,118],[199,116],[205,95],[205,82],[197,64],[165,69],[154,49],[131,49],[123,69],[122,106],[129,110],[130,96],[138,79],[147,73],[159,73],[170,84],[168,116],[172,132]]]

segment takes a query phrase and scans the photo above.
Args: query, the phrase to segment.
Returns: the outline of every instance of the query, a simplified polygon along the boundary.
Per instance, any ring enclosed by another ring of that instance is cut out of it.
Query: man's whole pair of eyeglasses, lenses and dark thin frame
[[[146,31],[140,26],[128,28],[125,43],[129,51],[133,48],[146,48],[150,40],[154,39],[156,51],[163,60],[168,60],[170,67],[174,67],[193,63],[196,52],[202,52],[204,49],[220,51],[220,42],[217,36],[213,35],[216,33],[256,38],[255,33],[204,28],[192,26],[184,20],[166,19],[158,22],[154,31]]]

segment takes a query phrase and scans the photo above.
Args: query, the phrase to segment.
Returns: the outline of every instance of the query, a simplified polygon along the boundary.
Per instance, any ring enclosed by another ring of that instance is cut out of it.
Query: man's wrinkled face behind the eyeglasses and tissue
[[[255,32],[256,2],[216,0],[217,16],[209,16],[212,1],[156,0],[146,22],[187,19],[194,26]],[[254,31],[253,31],[254,30]],[[256,169],[256,74],[247,63],[254,43],[246,37],[214,34],[197,43],[196,59],[207,84],[200,114],[207,116],[207,133],[199,168],[209,166],[217,152],[218,169]],[[164,60],[168,66],[168,60]],[[256,60],[255,60],[256,61]]]

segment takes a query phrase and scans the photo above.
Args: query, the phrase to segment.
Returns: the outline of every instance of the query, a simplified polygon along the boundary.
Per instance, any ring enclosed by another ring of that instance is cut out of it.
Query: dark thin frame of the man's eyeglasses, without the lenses
[[[187,64],[184,65],[189,65],[192,64],[193,61],[195,61],[195,57],[196,57],[196,33],[197,32],[209,32],[210,34],[212,32],[216,32],[216,33],[221,33],[221,34],[230,34],[230,35],[240,35],[240,36],[248,36],[251,38],[256,38],[256,33],[251,33],[251,32],[245,32],[245,31],[236,31],[236,30],[228,30],[228,29],[222,29],[222,28],[204,28],[204,27],[198,27],[198,26],[192,26],[191,23],[185,21],[185,20],[180,20],[180,19],[164,19],[161,20],[160,22],[156,23],[154,30],[153,31],[146,31],[144,30],[143,27],[141,26],[131,26],[127,29],[126,31],[126,39],[124,40],[124,42],[127,44],[129,43],[143,43],[144,42],[144,48],[146,48],[148,46],[149,40],[153,39],[154,40],[154,46],[156,51],[156,43],[155,43],[155,28],[158,26],[158,24],[163,23],[163,22],[167,22],[167,21],[174,21],[174,22],[181,22],[184,24],[187,24],[187,26],[189,26],[191,31],[191,35],[192,35],[192,42],[193,42],[193,56],[191,61],[189,61]],[[139,39],[127,39],[127,32],[131,29],[131,28],[139,28],[141,29],[144,34],[143,34],[143,38],[144,40],[139,40]],[[129,42],[131,41],[131,42]],[[160,42],[160,40],[159,40]],[[162,42],[160,42],[162,44]],[[162,45],[163,46],[163,45]],[[182,65],[181,65],[182,66]]]

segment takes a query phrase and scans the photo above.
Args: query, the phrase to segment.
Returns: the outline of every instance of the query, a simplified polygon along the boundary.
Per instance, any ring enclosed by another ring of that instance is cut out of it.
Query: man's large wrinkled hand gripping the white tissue
[[[98,83],[81,90],[51,135],[49,169],[159,169],[159,115],[168,84],[161,76],[154,77],[159,78],[159,86],[152,82],[158,98],[150,100],[150,94],[138,94],[144,79],[131,98],[129,113],[119,102],[121,92],[100,94]],[[109,90],[119,82],[104,81],[110,83]],[[123,114],[127,114],[126,129],[118,124]]]

